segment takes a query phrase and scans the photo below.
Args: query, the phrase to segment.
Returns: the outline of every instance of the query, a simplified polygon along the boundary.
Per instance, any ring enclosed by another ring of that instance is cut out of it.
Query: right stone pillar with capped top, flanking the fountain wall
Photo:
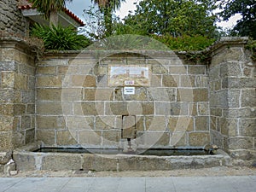
[[[212,143],[232,157],[256,156],[256,71],[247,38],[223,38],[209,71]]]

